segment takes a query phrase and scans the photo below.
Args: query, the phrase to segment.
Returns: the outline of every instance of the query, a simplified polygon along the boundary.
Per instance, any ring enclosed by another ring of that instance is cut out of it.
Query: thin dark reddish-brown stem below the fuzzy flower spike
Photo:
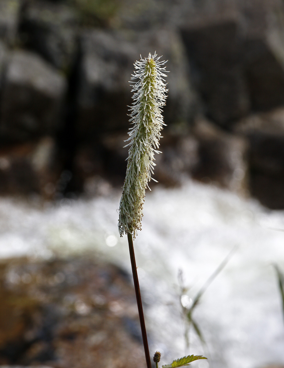
[[[142,308],[142,300],[141,300],[139,281],[138,281],[138,275],[137,275],[137,268],[136,268],[136,261],[135,261],[132,234],[127,233],[127,238],[128,238],[129,254],[130,254],[130,260],[131,260],[131,267],[132,267],[132,275],[133,275],[133,281],[134,281],[134,287],[135,287],[136,301],[137,301],[138,313],[139,313],[139,319],[140,319],[140,325],[141,325],[142,339],[143,339],[143,345],[144,345],[144,351],[145,351],[145,358],[146,358],[147,368],[151,368],[152,365],[151,365],[151,359],[150,359],[150,353],[149,353],[149,347],[148,347],[148,340],[147,340],[147,333],[146,333],[144,314],[143,314],[143,308]]]

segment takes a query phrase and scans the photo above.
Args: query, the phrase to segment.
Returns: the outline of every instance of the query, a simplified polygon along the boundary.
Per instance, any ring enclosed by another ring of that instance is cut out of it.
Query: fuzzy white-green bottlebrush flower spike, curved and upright
[[[128,162],[123,193],[120,200],[118,229],[120,236],[130,233],[137,234],[141,230],[143,203],[146,186],[153,179],[155,153],[161,153],[159,141],[163,129],[162,107],[166,105],[166,61],[159,61],[155,54],[145,59],[136,60],[134,74],[131,79],[134,92],[130,109],[129,122],[133,125],[129,129]],[[150,188],[149,188],[150,189]]]

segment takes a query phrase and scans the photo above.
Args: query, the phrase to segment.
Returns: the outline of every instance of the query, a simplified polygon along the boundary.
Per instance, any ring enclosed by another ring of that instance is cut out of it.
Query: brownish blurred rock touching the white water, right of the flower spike
[[[207,184],[247,194],[246,139],[198,118],[190,131],[171,131],[161,139],[153,178],[166,187],[179,186],[184,174]],[[151,183],[151,188],[155,183]]]

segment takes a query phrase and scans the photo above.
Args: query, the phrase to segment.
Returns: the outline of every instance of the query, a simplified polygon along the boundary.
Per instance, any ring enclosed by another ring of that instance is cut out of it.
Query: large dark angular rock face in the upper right
[[[268,16],[263,11],[261,19]],[[250,111],[284,105],[283,25],[263,24],[261,31],[248,22],[245,29],[235,15],[182,28],[192,81],[211,120],[231,128]]]

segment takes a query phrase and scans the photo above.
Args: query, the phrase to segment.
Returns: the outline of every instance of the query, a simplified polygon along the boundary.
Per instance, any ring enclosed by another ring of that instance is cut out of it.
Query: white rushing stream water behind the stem
[[[90,200],[39,205],[0,200],[0,256],[44,258],[94,249],[130,271],[127,238],[119,238],[120,192]],[[273,263],[284,269],[284,212],[230,192],[186,181],[146,195],[143,230],[134,241],[146,304],[150,351],[161,364],[186,354],[207,354],[195,367],[257,368],[284,364],[284,323]],[[191,332],[178,297],[178,270],[190,302],[230,250],[237,250],[206,290],[194,317],[207,349]]]

